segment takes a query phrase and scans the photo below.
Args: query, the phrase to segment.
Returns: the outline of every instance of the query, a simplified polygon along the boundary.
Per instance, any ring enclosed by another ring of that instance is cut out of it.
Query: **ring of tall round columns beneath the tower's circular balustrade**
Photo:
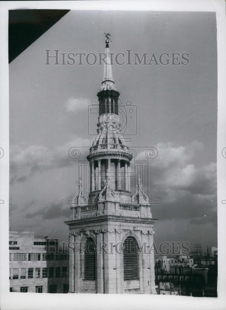
[[[98,159],[90,162],[91,192],[103,189],[107,170],[111,188],[130,191],[129,162],[123,159]]]

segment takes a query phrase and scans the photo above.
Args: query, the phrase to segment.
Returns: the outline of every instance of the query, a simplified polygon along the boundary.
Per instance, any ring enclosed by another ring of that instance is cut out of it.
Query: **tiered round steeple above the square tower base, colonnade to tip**
[[[106,43],[106,63],[101,90],[98,92],[98,135],[87,157],[90,162],[90,202],[131,202],[129,165],[133,156],[120,134],[120,117],[115,81],[111,69],[109,40]]]

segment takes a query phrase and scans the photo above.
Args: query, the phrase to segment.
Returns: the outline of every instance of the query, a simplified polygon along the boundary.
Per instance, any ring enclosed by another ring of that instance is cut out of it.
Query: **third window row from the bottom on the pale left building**
[[[9,253],[9,260],[12,261],[25,261],[27,260],[28,254],[28,261],[39,261],[41,260],[41,253]],[[53,254],[53,253],[43,253],[42,260],[67,260],[67,254]]]

